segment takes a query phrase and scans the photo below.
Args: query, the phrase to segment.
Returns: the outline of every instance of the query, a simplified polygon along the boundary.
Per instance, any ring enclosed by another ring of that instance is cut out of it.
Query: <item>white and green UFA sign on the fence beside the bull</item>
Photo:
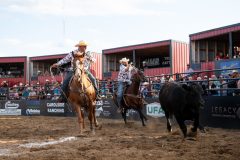
[[[157,102],[150,103],[147,105],[147,115],[152,116],[152,117],[165,116],[160,103],[157,103]]]

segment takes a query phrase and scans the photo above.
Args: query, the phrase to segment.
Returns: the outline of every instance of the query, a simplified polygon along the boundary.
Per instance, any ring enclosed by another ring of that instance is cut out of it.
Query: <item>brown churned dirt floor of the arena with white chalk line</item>
[[[95,134],[78,136],[76,117],[0,117],[0,159],[239,159],[240,130],[206,128],[196,140],[182,140],[165,119],[140,121],[100,119]]]

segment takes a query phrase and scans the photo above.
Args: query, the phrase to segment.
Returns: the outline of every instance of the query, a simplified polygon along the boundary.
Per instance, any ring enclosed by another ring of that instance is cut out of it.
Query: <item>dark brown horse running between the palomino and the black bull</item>
[[[127,123],[127,110],[134,109],[138,111],[140,118],[142,120],[142,125],[145,126],[144,120],[147,121],[147,118],[142,113],[142,108],[144,107],[144,100],[139,96],[139,87],[141,81],[146,80],[146,77],[143,75],[143,72],[132,66],[131,69],[131,81],[132,83],[124,90],[123,100],[122,100],[122,117],[125,124]],[[114,102],[117,105],[117,95],[116,93],[113,96]]]

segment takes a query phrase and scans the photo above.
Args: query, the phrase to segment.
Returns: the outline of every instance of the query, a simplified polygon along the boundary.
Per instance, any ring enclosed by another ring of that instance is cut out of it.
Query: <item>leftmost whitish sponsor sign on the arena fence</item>
[[[22,110],[19,103],[13,101],[5,102],[5,109],[0,109],[0,115],[21,115]]]

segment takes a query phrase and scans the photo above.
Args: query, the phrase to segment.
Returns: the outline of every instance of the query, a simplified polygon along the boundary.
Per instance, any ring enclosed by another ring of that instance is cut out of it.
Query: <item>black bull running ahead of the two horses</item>
[[[165,83],[159,92],[159,101],[167,118],[167,129],[172,131],[170,119],[175,116],[184,137],[187,136],[185,120],[193,120],[192,132],[199,127],[200,107],[204,104],[202,87],[197,83]]]

